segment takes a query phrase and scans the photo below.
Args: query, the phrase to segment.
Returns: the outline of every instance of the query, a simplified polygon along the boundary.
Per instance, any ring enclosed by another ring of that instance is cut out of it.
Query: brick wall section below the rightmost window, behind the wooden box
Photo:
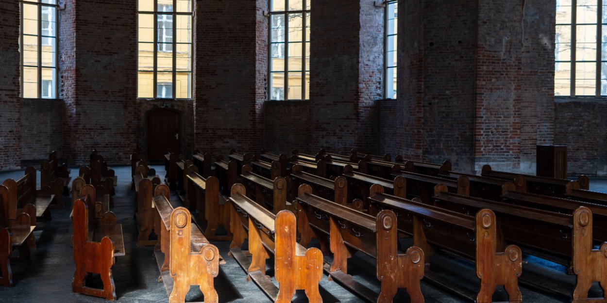
[[[557,99],[554,143],[567,146],[569,174],[607,176],[607,103],[604,99]]]

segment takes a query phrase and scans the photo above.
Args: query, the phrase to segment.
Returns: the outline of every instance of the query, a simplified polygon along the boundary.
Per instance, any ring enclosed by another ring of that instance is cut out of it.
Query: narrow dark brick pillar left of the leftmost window
[[[0,170],[21,165],[19,2],[0,0]]]

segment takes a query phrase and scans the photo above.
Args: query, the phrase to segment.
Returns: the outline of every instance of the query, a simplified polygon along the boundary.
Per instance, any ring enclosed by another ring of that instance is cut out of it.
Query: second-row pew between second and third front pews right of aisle
[[[274,215],[281,210],[290,210],[295,212],[294,205],[288,202],[288,184],[287,179],[280,176],[274,179],[263,178],[251,171],[249,165],[242,167],[243,184],[245,185],[246,196],[254,199],[257,204],[272,211]]]

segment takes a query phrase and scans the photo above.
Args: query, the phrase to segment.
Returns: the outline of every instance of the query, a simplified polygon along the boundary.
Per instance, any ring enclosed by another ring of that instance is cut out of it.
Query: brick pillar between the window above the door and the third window
[[[203,153],[262,148],[267,2],[207,1],[197,8],[194,139]]]

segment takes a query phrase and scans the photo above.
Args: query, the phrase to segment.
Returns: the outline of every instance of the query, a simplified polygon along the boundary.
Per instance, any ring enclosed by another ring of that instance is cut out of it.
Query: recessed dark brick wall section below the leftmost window
[[[63,156],[64,103],[59,99],[23,99],[21,102],[22,160],[48,159],[50,151]]]

